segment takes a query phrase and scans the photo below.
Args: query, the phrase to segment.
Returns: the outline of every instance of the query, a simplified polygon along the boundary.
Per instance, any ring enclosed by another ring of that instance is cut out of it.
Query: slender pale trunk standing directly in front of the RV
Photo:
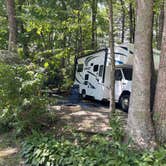
[[[115,112],[115,56],[114,56],[114,35],[113,35],[113,5],[112,0],[109,0],[109,47],[111,57],[111,68],[110,68],[110,111],[111,114]]]

